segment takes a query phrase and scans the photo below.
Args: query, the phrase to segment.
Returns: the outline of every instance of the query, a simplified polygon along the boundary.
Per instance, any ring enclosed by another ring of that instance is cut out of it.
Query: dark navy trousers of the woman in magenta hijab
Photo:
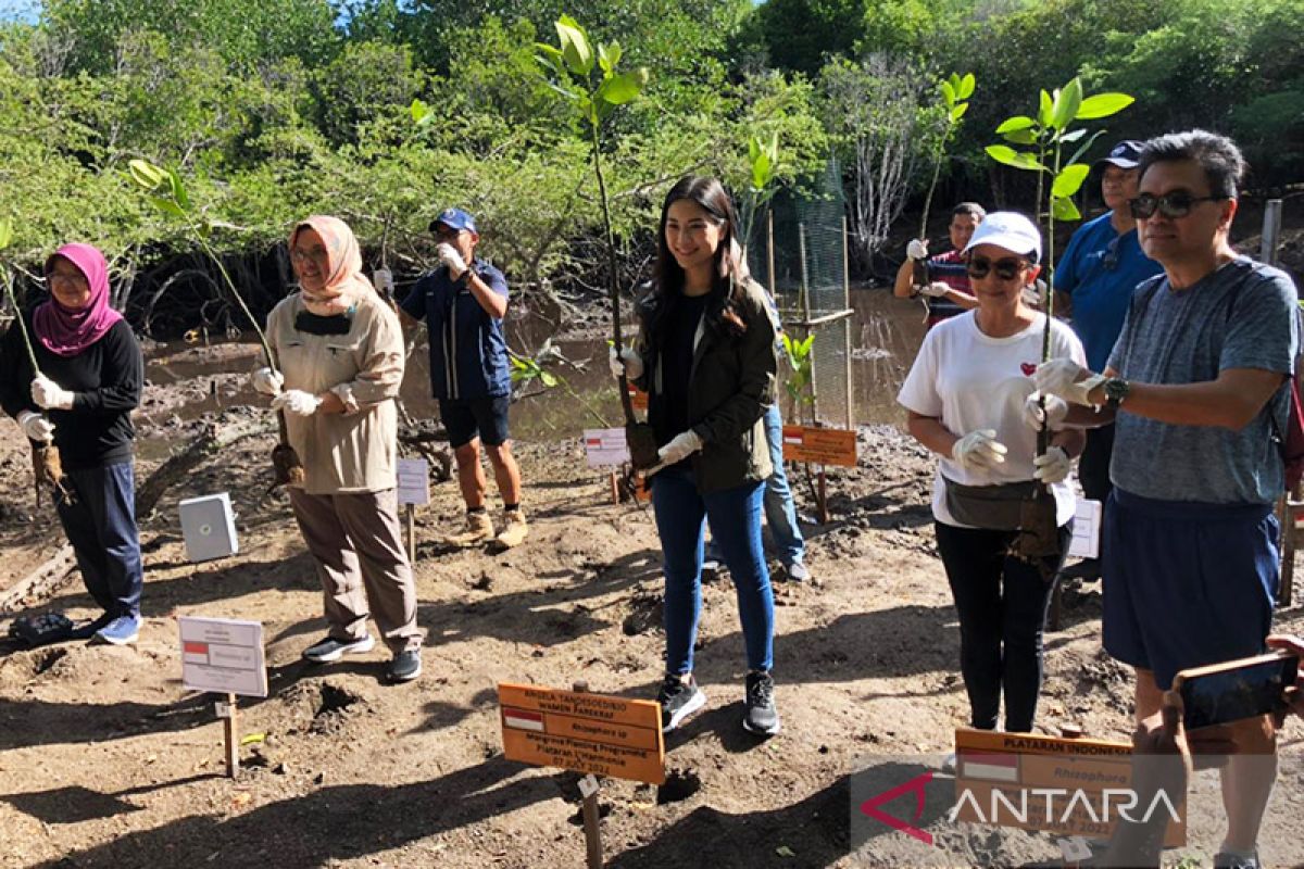
[[[107,615],[140,615],[145,571],[132,463],[65,470],[64,486],[72,503],[56,494],[55,508],[86,590]]]

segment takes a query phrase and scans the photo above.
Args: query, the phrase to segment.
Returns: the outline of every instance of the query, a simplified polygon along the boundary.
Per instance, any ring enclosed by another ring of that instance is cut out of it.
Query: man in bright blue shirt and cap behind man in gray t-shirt
[[[1119,142],[1110,155],[1097,160],[1101,197],[1108,211],[1082,224],[1068,242],[1055,267],[1055,309],[1072,318],[1073,331],[1086,348],[1093,371],[1103,371],[1110,350],[1123,331],[1132,291],[1154,278],[1163,267],[1141,250],[1137,221],[1128,199],[1137,194],[1137,158],[1141,142]],[[1110,496],[1110,456],[1114,453],[1114,426],[1090,429],[1086,448],[1077,468],[1082,492],[1104,504]],[[1064,571],[1064,576],[1095,578],[1098,559],[1086,559]]]

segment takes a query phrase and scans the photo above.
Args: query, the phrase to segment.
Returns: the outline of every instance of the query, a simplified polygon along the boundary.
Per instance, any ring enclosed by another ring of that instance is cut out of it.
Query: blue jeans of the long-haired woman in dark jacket
[[[689,463],[652,477],[652,509],[665,562],[665,671],[692,672],[692,644],[702,615],[703,517],[720,541],[738,593],[747,667],[768,671],[775,654],[775,594],[760,546],[764,483],[698,492]]]

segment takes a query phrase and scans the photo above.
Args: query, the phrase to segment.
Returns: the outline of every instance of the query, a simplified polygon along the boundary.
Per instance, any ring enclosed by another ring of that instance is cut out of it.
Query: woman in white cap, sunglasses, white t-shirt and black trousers
[[[1039,271],[1041,233],[1021,214],[987,215],[964,249],[978,307],[925,336],[897,396],[914,438],[941,456],[932,491],[938,551],[960,615],[960,670],[971,726],[995,730],[1001,694],[1005,730],[1033,728],[1042,685],[1042,629],[1063,562],[1011,554],[1020,504],[1039,485],[1055,496],[1060,550],[1068,548],[1078,430],[1054,431],[1045,456],[1025,405],[1028,375],[1042,358],[1046,315],[1022,291]],[[1073,331],[1051,323],[1051,357],[1086,358]]]

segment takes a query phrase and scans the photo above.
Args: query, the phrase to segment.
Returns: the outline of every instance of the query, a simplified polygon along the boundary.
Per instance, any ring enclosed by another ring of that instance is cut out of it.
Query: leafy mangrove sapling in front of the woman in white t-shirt
[[[1088,149],[1104,130],[1097,130],[1086,137],[1082,128],[1069,129],[1073,121],[1095,120],[1115,115],[1134,99],[1127,94],[1082,94],[1082,81],[1077,77],[1054,94],[1041,93],[1037,117],[1016,115],[1005,119],[996,133],[1013,145],[1030,146],[1031,151],[1016,151],[1008,145],[988,145],[987,155],[1004,165],[1037,173],[1035,219],[1046,221],[1046,255],[1042,257],[1046,272],[1046,291],[1042,306],[1046,309],[1046,328],[1042,331],[1042,362],[1051,353],[1051,318],[1055,315],[1055,221],[1078,220],[1081,212],[1073,203],[1091,167],[1078,163]],[[1064,160],[1064,146],[1086,137],[1073,155]],[[1050,176],[1050,188],[1046,188]],[[1047,193],[1046,210],[1042,211],[1042,194]],[[1042,396],[1042,427],[1037,433],[1037,455],[1046,455],[1050,447],[1050,427],[1046,421],[1046,397]],[[1046,575],[1047,564],[1060,555],[1059,530],[1055,524],[1055,498],[1045,485],[1033,490],[1033,496],[1024,502],[1020,534],[1015,542],[1015,554],[1024,560],[1034,562]]]

